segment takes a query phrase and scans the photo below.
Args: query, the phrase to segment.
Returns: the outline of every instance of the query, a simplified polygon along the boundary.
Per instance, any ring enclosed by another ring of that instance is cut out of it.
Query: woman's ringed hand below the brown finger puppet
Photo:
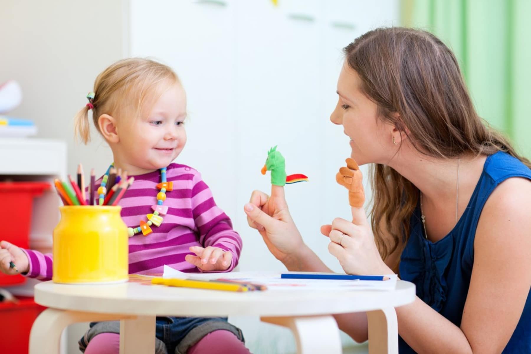
[[[328,251],[338,259],[347,274],[392,274],[383,262],[363,208],[352,208],[353,221],[336,218],[332,225],[321,226],[330,238]]]

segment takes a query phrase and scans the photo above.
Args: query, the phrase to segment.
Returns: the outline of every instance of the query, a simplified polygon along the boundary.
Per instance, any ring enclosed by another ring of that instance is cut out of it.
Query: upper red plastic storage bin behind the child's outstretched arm
[[[1,239],[29,248],[33,197],[42,195],[49,188],[50,184],[46,182],[0,182]],[[24,281],[22,275],[5,275],[0,272],[0,287]]]

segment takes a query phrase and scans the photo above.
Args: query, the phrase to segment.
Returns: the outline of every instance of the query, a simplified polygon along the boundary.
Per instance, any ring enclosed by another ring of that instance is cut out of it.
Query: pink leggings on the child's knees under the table
[[[85,354],[118,354],[120,335],[117,333],[100,333],[89,342]],[[187,354],[224,354],[249,353],[241,340],[232,332],[218,330],[205,335],[187,351]]]

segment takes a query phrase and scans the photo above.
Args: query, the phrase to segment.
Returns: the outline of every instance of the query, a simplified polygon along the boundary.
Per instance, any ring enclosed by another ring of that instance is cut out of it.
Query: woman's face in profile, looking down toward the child
[[[377,116],[378,107],[361,91],[359,75],[345,62],[339,74],[336,109],[330,115],[333,124],[341,124],[350,138],[350,156],[358,165],[387,163],[395,152],[394,126]]]

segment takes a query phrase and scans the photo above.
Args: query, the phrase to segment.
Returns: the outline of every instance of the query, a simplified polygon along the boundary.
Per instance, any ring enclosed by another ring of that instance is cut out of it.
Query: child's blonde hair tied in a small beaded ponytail
[[[146,99],[162,93],[158,92],[161,91],[158,84],[165,81],[177,83],[179,79],[172,68],[150,59],[127,58],[110,65],[96,77],[90,103],[75,115],[75,136],[79,135],[84,144],[90,141],[89,110],[98,132],[98,118],[102,114],[116,116],[127,111],[138,116]]]

